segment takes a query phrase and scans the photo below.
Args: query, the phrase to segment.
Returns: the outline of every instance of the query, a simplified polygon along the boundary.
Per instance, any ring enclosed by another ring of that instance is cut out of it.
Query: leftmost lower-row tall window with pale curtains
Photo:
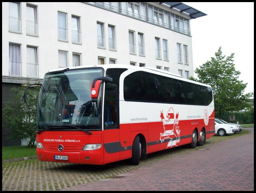
[[[9,75],[21,76],[20,45],[9,43]]]

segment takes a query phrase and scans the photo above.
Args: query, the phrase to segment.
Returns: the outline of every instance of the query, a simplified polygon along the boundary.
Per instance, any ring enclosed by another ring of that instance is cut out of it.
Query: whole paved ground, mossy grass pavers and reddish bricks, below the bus
[[[149,154],[139,166],[4,163],[2,191],[254,191],[254,128],[248,130],[192,151],[173,148],[167,159],[152,161],[161,155]]]

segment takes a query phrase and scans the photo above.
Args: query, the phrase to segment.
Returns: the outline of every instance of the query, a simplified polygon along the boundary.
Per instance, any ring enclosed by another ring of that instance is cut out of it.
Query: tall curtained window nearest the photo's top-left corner
[[[9,2],[9,31],[21,33],[20,4]]]

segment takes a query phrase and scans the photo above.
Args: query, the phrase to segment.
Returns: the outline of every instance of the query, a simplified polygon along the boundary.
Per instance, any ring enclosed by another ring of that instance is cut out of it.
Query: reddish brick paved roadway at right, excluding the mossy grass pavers
[[[254,191],[254,129],[205,150],[61,191]]]

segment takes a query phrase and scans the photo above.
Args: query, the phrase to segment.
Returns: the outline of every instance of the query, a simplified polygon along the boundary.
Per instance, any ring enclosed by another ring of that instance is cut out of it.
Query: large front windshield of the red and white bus
[[[47,73],[39,94],[37,129],[102,129],[102,88],[98,100],[92,102],[90,85],[103,73],[102,68]]]

